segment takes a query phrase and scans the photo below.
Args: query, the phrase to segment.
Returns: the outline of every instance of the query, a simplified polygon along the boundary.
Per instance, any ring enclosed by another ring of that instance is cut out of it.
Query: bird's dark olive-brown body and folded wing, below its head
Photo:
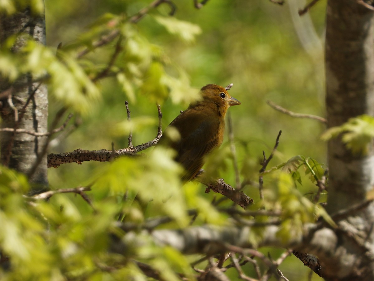
[[[207,116],[206,112],[189,111],[179,115],[170,125],[181,135],[171,146],[177,151],[175,161],[186,170],[182,179],[188,181],[203,166],[203,157],[221,144],[220,120]]]

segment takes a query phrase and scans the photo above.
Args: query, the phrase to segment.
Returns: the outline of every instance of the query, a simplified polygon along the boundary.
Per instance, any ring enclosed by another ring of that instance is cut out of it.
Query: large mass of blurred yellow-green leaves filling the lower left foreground
[[[90,195],[95,211],[80,209],[73,197],[63,194],[54,195],[49,202],[25,199],[23,194],[28,189],[25,177],[2,167],[0,248],[2,255],[9,255],[12,271],[0,271],[0,277],[9,280],[140,277],[139,269],[130,259],[153,266],[165,280],[178,280],[175,272],[191,275],[185,257],[172,248],[154,245],[149,235],[126,236],[121,256],[107,251],[111,233],[124,234],[116,227],[118,214],[122,214],[124,223],[141,225],[144,215],[151,218],[168,215],[179,227],[188,224],[187,206],[196,206],[196,202],[186,204],[184,198],[196,195],[196,188],[194,191],[181,188],[180,167],[172,162],[171,155],[171,151],[156,150],[149,158],[121,158],[101,170]],[[125,193],[127,200],[121,200]],[[204,199],[197,199],[206,213],[212,209]],[[110,274],[106,266],[119,266],[123,270]]]

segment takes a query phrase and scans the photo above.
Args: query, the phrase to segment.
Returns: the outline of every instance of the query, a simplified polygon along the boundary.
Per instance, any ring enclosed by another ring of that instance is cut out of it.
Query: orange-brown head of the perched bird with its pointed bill
[[[214,84],[208,84],[202,87],[201,96],[201,102],[216,105],[223,117],[230,106],[241,104],[239,100],[230,96],[225,88]]]

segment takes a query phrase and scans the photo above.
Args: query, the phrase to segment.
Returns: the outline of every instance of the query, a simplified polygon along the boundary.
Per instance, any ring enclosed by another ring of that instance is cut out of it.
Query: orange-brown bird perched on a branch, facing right
[[[157,145],[169,146],[177,152],[175,161],[185,170],[182,181],[190,181],[203,166],[205,155],[221,145],[226,111],[241,104],[227,93],[231,87],[232,84],[226,88],[214,84],[202,87],[201,99],[181,112],[161,136]],[[171,127],[177,129],[179,138],[169,138]]]

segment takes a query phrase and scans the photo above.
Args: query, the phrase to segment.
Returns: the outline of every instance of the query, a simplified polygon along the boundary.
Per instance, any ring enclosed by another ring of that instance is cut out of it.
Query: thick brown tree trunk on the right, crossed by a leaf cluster
[[[329,0],[326,25],[328,128],[374,114],[374,12],[357,0]],[[374,149],[353,154],[341,141],[328,143],[328,204],[334,214],[361,204],[374,184]],[[374,205],[338,222],[333,256],[323,259],[327,280],[374,280]]]

